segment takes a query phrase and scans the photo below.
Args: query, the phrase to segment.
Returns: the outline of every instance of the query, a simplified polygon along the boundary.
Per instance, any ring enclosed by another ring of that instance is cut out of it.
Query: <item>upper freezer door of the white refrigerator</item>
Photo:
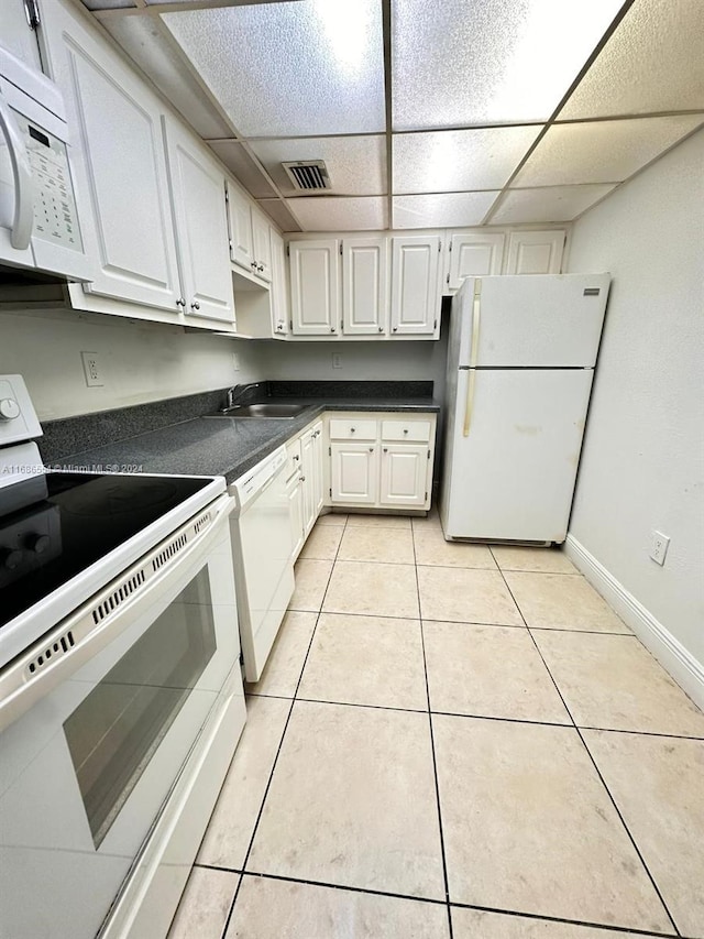
[[[468,277],[452,305],[461,317],[460,364],[592,368],[609,282],[609,274]]]

